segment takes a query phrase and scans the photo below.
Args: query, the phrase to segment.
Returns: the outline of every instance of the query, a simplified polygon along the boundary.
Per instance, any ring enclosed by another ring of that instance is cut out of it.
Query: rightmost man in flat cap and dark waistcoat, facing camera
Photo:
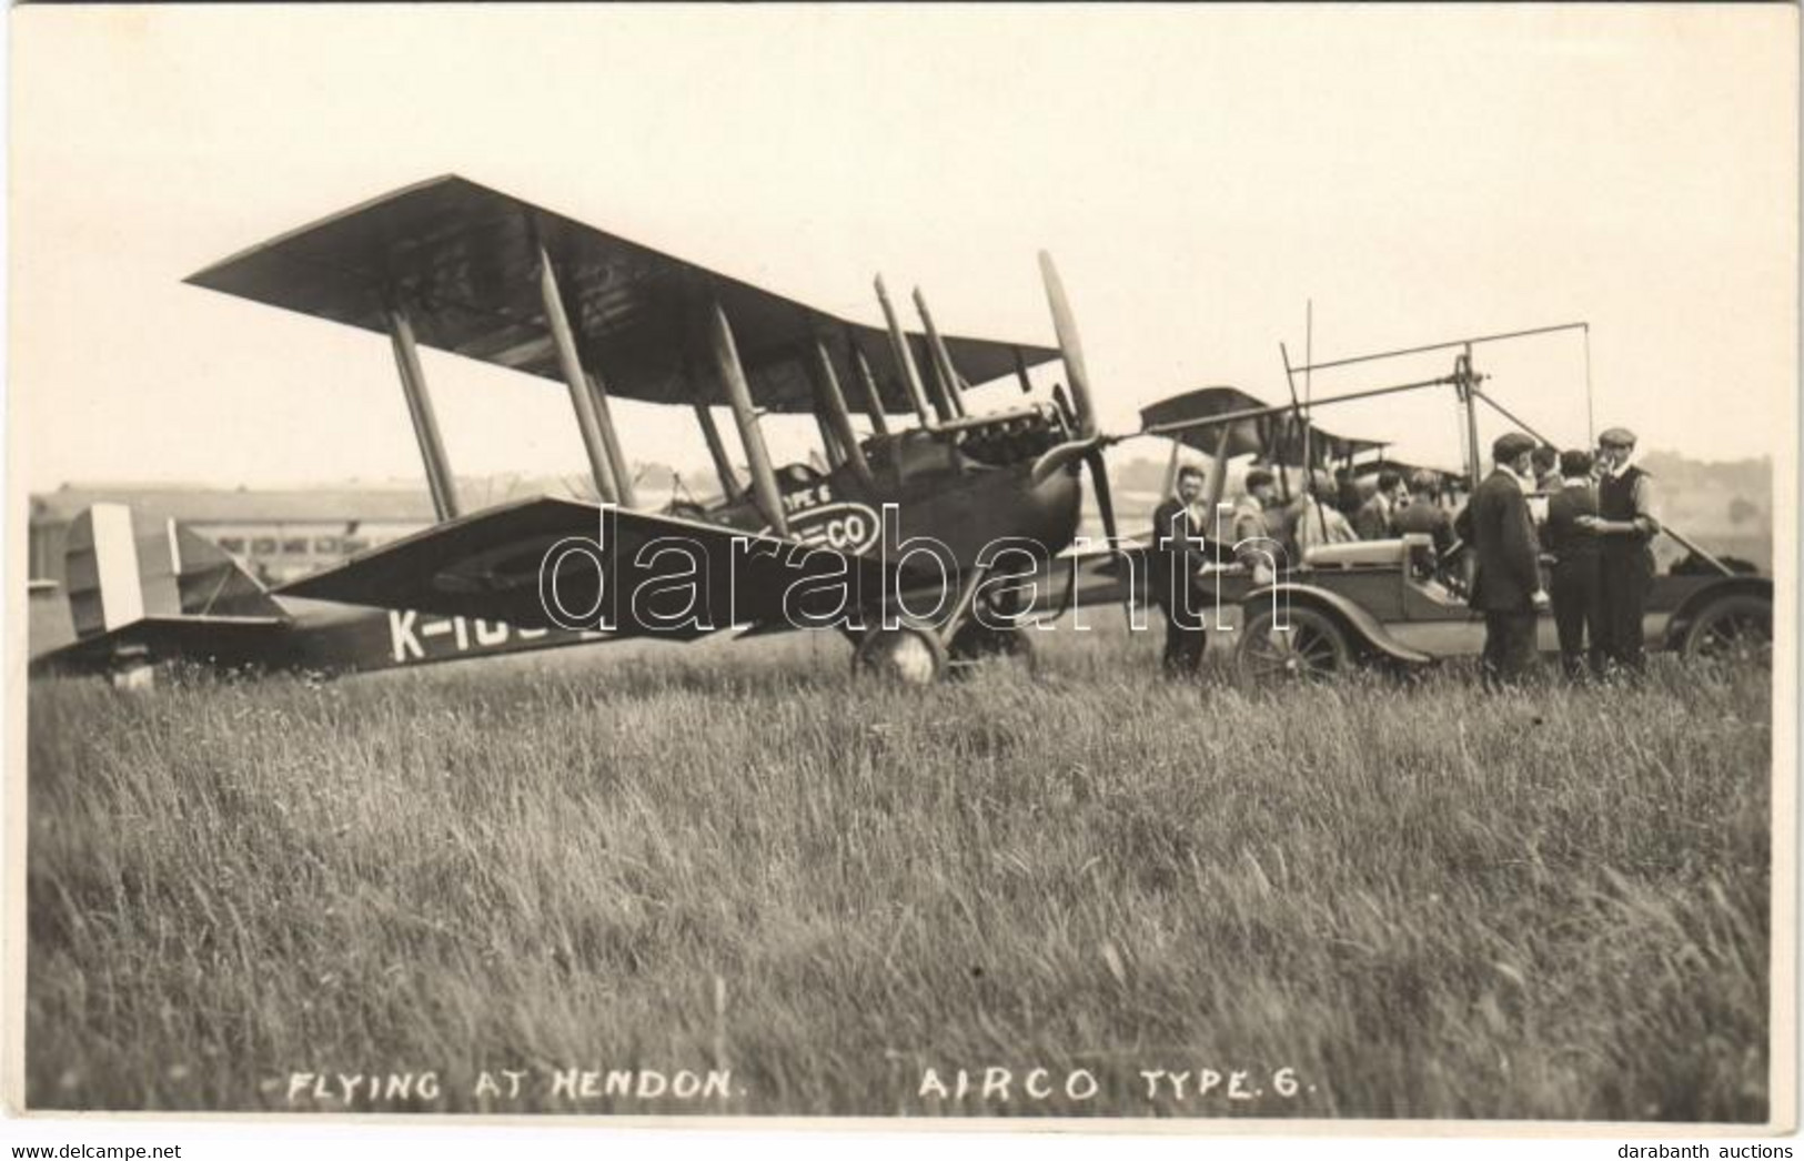
[[[1640,676],[1642,617],[1647,590],[1654,580],[1654,553],[1649,543],[1660,532],[1654,517],[1654,478],[1629,460],[1634,433],[1611,427],[1597,438],[1604,474],[1597,483],[1597,516],[1578,525],[1598,537],[1604,656],[1629,674]]]

